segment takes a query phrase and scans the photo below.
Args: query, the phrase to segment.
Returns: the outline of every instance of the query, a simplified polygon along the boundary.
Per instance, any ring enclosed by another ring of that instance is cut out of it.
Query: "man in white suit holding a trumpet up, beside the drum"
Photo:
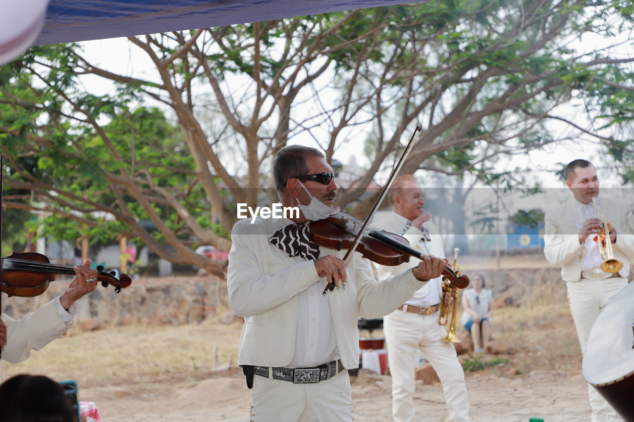
[[[547,210],[544,254],[550,264],[561,266],[568,300],[577,329],[581,352],[601,309],[628,285],[630,259],[634,259],[634,216],[627,205],[615,198],[599,198],[597,170],[586,160],[574,160],[566,167],[566,186],[573,193],[569,200]],[[605,272],[595,235],[601,221],[595,214],[603,206],[614,258],[623,262],[618,272]],[[620,421],[612,407],[594,387],[588,385],[592,421]]]

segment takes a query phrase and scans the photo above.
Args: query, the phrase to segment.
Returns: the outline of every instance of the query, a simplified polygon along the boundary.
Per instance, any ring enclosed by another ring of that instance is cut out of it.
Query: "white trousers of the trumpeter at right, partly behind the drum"
[[[601,309],[613,298],[616,293],[628,285],[623,277],[592,280],[582,278],[574,283],[566,283],[570,311],[573,314],[574,326],[577,328],[577,336],[581,345],[581,353],[586,348],[590,329],[598,317]],[[592,407],[592,422],[617,422],[621,421],[612,406],[588,384],[590,395],[590,407]]]

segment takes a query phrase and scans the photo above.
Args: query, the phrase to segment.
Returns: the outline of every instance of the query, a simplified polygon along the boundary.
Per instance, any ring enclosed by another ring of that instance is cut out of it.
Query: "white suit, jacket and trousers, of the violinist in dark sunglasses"
[[[321,296],[327,283],[325,278],[318,276],[313,260],[289,257],[269,242],[269,238],[280,227],[293,222],[261,217],[257,217],[254,224],[250,222],[250,219],[238,221],[233,227],[227,274],[231,309],[245,319],[238,353],[239,365],[297,367],[292,366],[292,362],[308,362],[308,356],[314,354],[313,348],[321,347],[322,353],[323,350],[329,353],[328,359],[340,359],[347,369],[358,368],[359,317],[376,318],[389,314],[427,283],[417,280],[411,271],[377,281],[370,262],[359,253],[354,253],[347,267],[346,288],[335,289]],[[334,255],[343,258],[345,253],[345,250],[320,248],[320,257]],[[315,309],[299,309],[300,304],[309,304]],[[328,331],[328,328],[311,328],[313,317],[311,321],[305,321],[307,316],[312,315],[323,318],[323,309],[330,312],[325,321],[332,321],[333,335],[326,335],[326,338],[334,340],[332,348],[315,345],[313,341],[320,338],[323,329]],[[302,355],[295,356],[296,351]],[[321,363],[325,362],[318,362]],[[344,373],[344,376],[340,376]],[[333,400],[334,403],[336,397],[340,396],[344,398],[341,401],[351,407],[349,378],[346,371],[340,374],[331,379],[335,380],[332,381],[332,387],[328,387],[331,380],[295,385],[288,381],[255,376],[252,406],[256,409],[271,409],[268,416],[259,418],[256,415],[255,419],[340,420],[341,413],[328,409],[328,403],[324,406],[314,404],[320,400],[319,395],[324,393],[331,397],[324,399],[326,402]],[[262,387],[265,384],[266,388]],[[270,390],[274,387],[275,391]],[[310,389],[310,392],[304,393],[306,389]],[[298,395],[310,395],[310,403]],[[295,412],[294,409],[299,410]]]

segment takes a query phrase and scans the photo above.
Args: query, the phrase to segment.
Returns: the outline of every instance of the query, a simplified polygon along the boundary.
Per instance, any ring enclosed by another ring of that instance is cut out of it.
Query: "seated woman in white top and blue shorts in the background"
[[[491,339],[491,302],[493,291],[484,288],[484,277],[476,274],[472,278],[473,288],[462,294],[462,312],[460,323],[471,333],[474,342],[474,352],[482,352],[489,345]]]

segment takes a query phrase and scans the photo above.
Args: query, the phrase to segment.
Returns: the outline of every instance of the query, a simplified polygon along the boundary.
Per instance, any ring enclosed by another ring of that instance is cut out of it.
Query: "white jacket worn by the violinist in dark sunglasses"
[[[238,353],[239,365],[287,366],[295,352],[297,295],[318,283],[313,260],[289,257],[269,242],[287,219],[250,219],[233,226],[227,288],[229,304],[245,319]],[[321,248],[320,257],[343,258],[345,250]],[[335,328],[339,357],[347,369],[359,366],[359,317],[382,317],[411,298],[420,288],[411,271],[377,281],[370,262],[354,253],[346,288],[326,294]]]

